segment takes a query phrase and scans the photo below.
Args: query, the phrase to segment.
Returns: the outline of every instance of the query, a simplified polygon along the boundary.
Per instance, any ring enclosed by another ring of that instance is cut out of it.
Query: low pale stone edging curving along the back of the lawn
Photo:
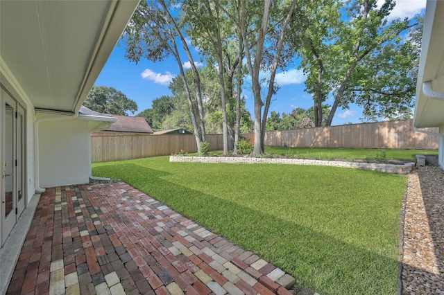
[[[342,168],[355,168],[373,170],[378,172],[388,172],[393,174],[409,174],[416,163],[405,163],[402,165],[386,163],[359,163],[345,161],[325,161],[311,159],[272,159],[272,158],[252,158],[252,157],[181,157],[170,156],[170,162],[188,163],[239,163],[239,164],[291,164],[291,165],[314,165],[332,166]]]

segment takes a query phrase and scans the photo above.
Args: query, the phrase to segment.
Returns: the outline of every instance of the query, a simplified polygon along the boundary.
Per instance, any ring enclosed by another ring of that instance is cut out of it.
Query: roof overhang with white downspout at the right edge
[[[416,84],[413,126],[444,125],[444,1],[428,0],[418,81]]]

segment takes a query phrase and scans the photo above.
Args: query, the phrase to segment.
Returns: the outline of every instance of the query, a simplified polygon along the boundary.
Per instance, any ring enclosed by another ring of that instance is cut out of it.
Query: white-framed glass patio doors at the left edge
[[[1,244],[25,207],[24,109],[1,89]]]

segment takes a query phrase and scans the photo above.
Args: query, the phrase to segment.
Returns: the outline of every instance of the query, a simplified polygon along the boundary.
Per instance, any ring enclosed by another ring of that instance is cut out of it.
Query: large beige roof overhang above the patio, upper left
[[[1,78],[35,108],[78,111],[138,3],[0,1]]]

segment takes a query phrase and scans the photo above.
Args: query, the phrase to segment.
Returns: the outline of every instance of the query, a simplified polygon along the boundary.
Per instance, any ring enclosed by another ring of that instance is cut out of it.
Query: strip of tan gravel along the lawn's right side
[[[402,294],[444,295],[444,170],[409,174],[402,237]]]

